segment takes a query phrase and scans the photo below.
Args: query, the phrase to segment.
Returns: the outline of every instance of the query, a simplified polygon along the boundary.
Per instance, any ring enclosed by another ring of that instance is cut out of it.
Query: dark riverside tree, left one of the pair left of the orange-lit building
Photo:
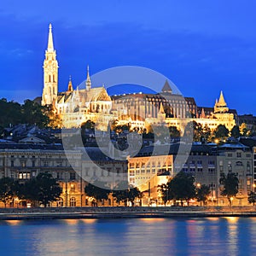
[[[86,195],[93,197],[96,200],[97,205],[98,201],[108,199],[110,190],[107,187],[106,189],[103,189],[104,187],[106,187],[105,183],[102,182],[96,182],[95,185],[88,183],[84,188],[84,192]]]

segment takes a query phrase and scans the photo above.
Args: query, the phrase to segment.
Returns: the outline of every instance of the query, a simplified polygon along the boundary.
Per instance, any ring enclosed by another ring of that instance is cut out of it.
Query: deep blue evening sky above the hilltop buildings
[[[3,0],[0,98],[41,96],[51,22],[60,90],[69,75],[80,84],[88,64],[91,74],[140,66],[199,106],[212,107],[223,90],[230,108],[256,114],[255,12],[253,0]]]

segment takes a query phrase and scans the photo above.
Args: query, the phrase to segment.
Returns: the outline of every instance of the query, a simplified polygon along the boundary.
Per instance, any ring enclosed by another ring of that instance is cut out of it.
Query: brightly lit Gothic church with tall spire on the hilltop
[[[89,67],[84,89],[74,90],[71,79],[67,91],[58,92],[58,61],[53,44],[52,26],[49,25],[48,48],[44,59],[44,90],[42,105],[52,104],[55,112],[61,116],[62,125],[66,128],[79,127],[88,119],[101,125],[99,129],[106,130],[106,124],[113,115],[109,114],[112,101],[104,87],[92,88]]]

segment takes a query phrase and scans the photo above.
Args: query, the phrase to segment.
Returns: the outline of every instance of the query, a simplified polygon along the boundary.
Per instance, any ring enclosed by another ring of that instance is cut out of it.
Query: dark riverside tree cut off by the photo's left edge
[[[10,177],[0,179],[0,201],[3,201],[4,207],[12,200],[15,195],[15,180]]]

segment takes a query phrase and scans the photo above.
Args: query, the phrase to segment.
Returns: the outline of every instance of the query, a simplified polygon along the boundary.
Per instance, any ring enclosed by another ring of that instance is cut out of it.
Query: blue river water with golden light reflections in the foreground
[[[0,255],[256,255],[256,218],[0,221]]]

